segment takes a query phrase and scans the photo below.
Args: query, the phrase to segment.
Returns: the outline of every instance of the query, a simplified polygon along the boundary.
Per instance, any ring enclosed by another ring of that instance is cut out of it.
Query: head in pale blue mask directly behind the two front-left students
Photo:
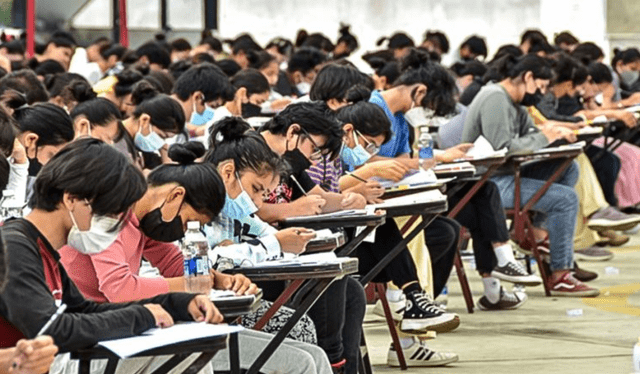
[[[180,104],[171,96],[158,93],[146,81],[136,84],[131,100],[133,114],[122,121],[125,130],[133,138],[136,149],[142,152],[144,168],[153,169],[169,162],[167,139],[182,133],[185,117]]]

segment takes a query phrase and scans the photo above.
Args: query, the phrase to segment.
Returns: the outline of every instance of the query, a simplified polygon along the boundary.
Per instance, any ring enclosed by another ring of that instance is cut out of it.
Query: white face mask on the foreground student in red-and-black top
[[[91,227],[87,231],[80,231],[73,213],[69,211],[73,227],[67,236],[67,244],[85,255],[100,253],[116,241],[120,228],[112,231],[118,224],[118,219],[96,216],[91,217]]]

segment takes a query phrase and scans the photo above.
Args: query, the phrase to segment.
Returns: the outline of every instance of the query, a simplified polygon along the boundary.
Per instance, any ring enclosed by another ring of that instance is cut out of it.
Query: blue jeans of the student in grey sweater
[[[520,198],[523,205],[545,184],[560,163],[561,161],[536,162],[521,168]],[[578,175],[578,165],[573,162],[533,205],[533,210],[546,216],[545,228],[549,233],[551,247],[551,271],[573,268],[573,234],[578,214],[578,197],[574,186],[578,181]],[[505,208],[513,208],[513,175],[495,176],[491,180],[498,186],[502,205]]]

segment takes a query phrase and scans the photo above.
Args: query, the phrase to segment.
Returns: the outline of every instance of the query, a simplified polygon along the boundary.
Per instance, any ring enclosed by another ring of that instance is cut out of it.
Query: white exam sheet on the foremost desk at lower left
[[[202,322],[178,323],[164,329],[153,328],[131,338],[107,340],[98,345],[127,358],[155,348],[190,340],[228,335],[243,330],[241,326],[212,325]]]

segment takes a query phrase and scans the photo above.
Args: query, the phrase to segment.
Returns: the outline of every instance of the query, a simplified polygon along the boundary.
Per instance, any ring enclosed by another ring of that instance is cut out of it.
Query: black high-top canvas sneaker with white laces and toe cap
[[[416,291],[407,295],[407,306],[400,322],[402,332],[449,332],[458,326],[460,317],[455,313],[445,313],[426,293]]]

